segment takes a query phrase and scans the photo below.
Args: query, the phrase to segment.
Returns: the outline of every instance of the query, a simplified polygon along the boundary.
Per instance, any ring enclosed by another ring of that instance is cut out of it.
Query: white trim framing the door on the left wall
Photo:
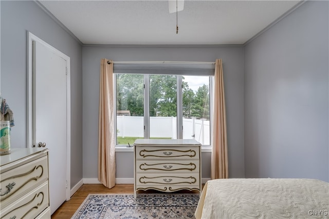
[[[32,75],[33,75],[33,41],[38,42],[45,47],[52,50],[54,53],[61,56],[66,61],[66,154],[67,154],[67,165],[66,165],[66,201],[70,200],[70,178],[71,178],[71,89],[70,89],[70,57],[62,53],[58,49],[50,46],[41,38],[35,36],[31,32],[27,31],[27,122],[26,122],[26,136],[27,136],[27,148],[33,147],[33,109],[32,109]]]

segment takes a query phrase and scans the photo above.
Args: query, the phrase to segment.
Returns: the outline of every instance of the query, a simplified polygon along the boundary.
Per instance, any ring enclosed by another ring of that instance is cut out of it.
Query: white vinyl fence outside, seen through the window
[[[143,116],[117,116],[118,137],[144,137]],[[177,138],[177,117],[150,117],[150,137]],[[210,121],[183,118],[183,138],[210,145]]]

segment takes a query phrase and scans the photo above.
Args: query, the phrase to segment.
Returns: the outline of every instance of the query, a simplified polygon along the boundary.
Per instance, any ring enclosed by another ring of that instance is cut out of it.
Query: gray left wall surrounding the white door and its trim
[[[26,31],[70,57],[71,186],[74,186],[82,179],[82,46],[35,2],[1,1],[1,93],[14,112],[12,148],[27,146]]]

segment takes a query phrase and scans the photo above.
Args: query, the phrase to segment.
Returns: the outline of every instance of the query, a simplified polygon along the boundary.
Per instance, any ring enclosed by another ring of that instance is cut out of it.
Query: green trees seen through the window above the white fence
[[[144,76],[117,74],[117,110],[130,110],[131,115],[144,115]],[[150,75],[150,116],[177,116],[177,78],[175,75]],[[209,119],[209,88],[196,92],[182,83],[183,116]]]

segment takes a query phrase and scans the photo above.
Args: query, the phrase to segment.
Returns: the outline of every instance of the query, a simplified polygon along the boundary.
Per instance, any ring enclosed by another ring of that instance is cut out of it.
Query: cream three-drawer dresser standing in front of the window
[[[134,195],[138,190],[201,193],[201,144],[195,140],[138,139],[134,143]]]

